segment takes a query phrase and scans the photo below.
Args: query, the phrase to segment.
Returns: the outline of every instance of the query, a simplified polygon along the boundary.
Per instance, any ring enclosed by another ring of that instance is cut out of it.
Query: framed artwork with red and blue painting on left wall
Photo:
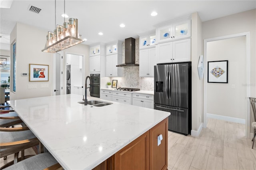
[[[49,81],[49,65],[29,64],[29,81]]]

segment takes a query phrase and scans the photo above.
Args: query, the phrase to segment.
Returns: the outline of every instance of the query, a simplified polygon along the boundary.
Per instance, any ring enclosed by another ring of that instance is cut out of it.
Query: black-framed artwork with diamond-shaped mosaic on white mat
[[[228,83],[228,60],[208,62],[208,83]]]

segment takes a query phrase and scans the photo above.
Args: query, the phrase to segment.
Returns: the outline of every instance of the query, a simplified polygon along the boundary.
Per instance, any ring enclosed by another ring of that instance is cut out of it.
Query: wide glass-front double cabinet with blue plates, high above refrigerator
[[[191,18],[160,24],[156,28],[156,43],[188,38],[191,36]]]

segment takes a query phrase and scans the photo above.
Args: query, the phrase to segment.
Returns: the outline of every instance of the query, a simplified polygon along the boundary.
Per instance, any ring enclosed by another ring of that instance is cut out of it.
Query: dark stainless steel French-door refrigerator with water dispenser
[[[154,66],[154,109],[170,112],[168,130],[191,131],[191,62]]]

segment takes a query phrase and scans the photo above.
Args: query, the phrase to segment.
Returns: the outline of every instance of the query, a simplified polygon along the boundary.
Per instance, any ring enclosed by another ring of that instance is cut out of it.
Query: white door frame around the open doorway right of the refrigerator
[[[207,125],[207,119],[206,119],[206,114],[207,114],[207,70],[208,70],[208,65],[207,65],[207,42],[211,41],[216,41],[216,40],[225,40],[229,38],[237,38],[245,36],[246,37],[246,121],[245,121],[245,135],[246,138],[250,138],[250,101],[248,100],[248,97],[250,97],[251,93],[251,87],[250,87],[250,32],[243,32],[239,34],[232,34],[228,36],[220,36],[220,37],[215,37],[215,38],[208,38],[204,39],[204,128],[206,128]]]

